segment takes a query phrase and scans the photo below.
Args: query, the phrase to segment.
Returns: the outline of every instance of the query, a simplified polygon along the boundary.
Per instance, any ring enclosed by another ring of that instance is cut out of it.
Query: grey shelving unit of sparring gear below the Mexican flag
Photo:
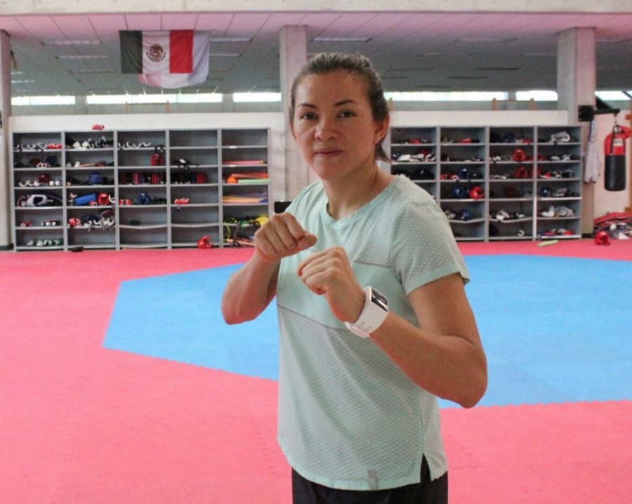
[[[270,213],[270,128],[12,136],[17,251],[225,246],[225,223]]]

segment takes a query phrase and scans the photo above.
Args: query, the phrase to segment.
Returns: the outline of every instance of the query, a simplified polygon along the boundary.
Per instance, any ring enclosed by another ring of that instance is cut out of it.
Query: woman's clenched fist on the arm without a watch
[[[303,230],[291,213],[275,213],[254,235],[255,251],[266,263],[275,263],[316,244],[315,234]]]

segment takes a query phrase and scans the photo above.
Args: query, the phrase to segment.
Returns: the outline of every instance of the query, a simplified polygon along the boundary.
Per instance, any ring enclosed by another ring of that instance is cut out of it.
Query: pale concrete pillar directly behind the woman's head
[[[310,181],[310,168],[292,138],[288,115],[294,77],[307,61],[307,27],[284,26],[279,37],[281,102],[285,117],[282,142],[285,150],[285,199],[291,200]]]

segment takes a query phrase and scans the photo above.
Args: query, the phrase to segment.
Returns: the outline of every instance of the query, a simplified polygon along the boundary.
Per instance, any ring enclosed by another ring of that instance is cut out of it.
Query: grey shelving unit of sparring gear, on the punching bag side
[[[392,173],[435,197],[459,241],[581,237],[579,126],[394,126]]]

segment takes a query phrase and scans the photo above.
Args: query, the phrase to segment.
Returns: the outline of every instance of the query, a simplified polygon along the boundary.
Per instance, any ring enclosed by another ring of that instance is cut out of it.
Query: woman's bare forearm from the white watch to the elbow
[[[469,408],[485,393],[485,353],[467,338],[423,331],[390,312],[371,340],[414,383],[437,397]]]

